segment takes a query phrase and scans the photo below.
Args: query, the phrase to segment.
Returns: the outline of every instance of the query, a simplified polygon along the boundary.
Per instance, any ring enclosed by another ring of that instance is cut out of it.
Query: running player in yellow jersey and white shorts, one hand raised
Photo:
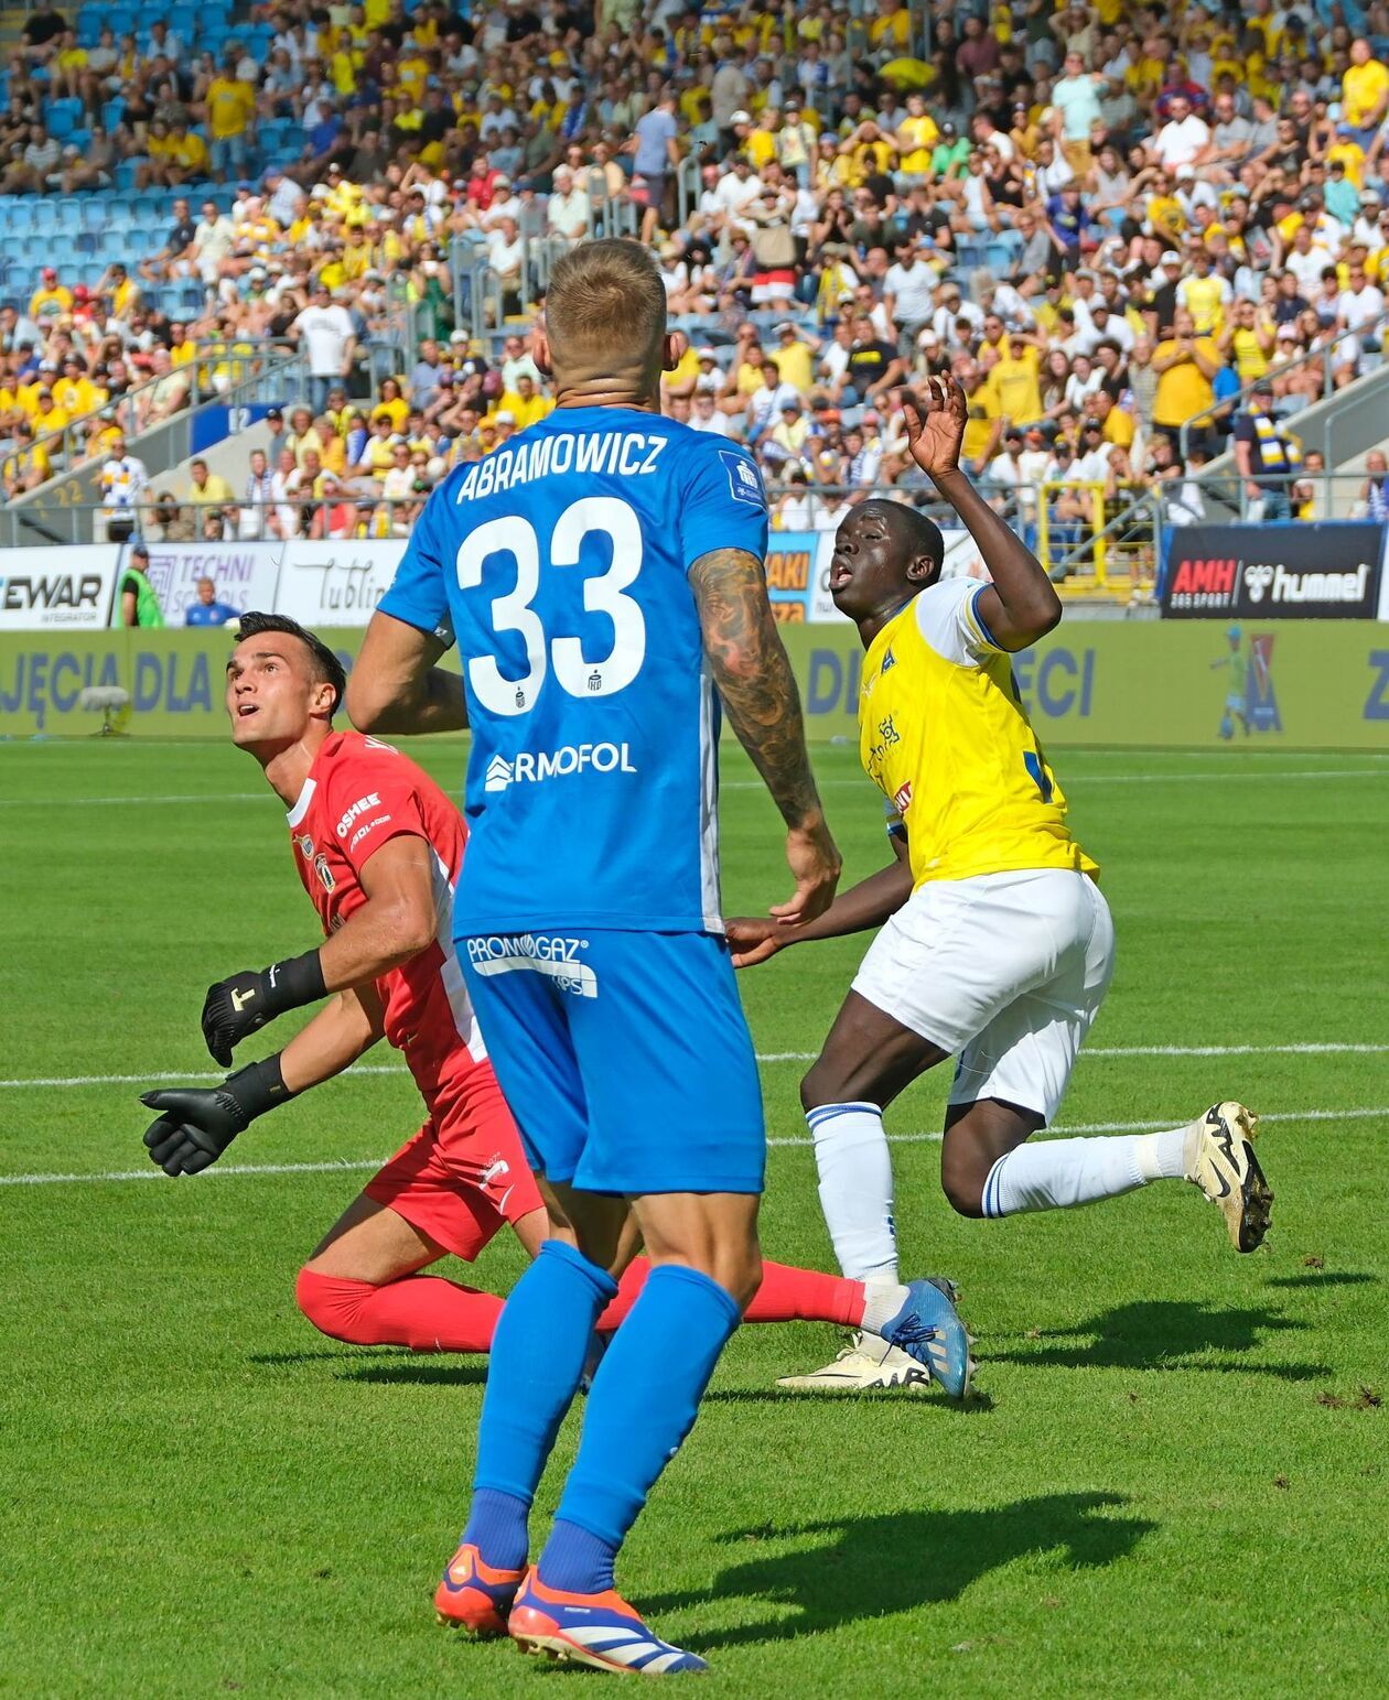
[[[1185,1178],[1251,1251],[1273,1195],[1241,1103],[1168,1132],[1027,1144],[1054,1120],[1098,1013],[1114,925],[1013,683],[1010,653],[1049,632],[1061,602],[961,471],[964,391],[933,377],[921,398],[923,413],[906,410],[911,456],[969,529],[993,583],[942,580],[938,527],[896,502],[864,502],[835,536],[830,590],[867,651],[860,755],[887,799],[894,860],[806,926],[728,923],[738,966],[797,940],[882,928],[801,1083],[835,1251],[847,1275],[896,1282],[882,1112],[952,1056],[940,1180],[962,1216],[1090,1204]],[[860,1333],[833,1363],[784,1386],[899,1386],[894,1352]]]

